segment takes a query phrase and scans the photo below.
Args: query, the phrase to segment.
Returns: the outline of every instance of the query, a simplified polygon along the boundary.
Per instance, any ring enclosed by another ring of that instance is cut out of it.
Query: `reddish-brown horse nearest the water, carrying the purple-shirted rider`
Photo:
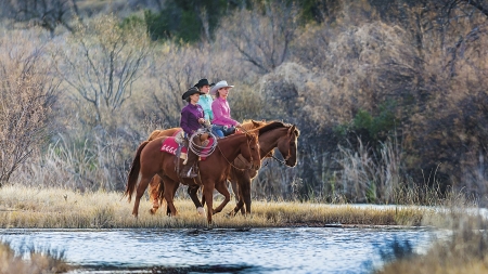
[[[164,197],[172,214],[176,214],[176,208],[172,203],[174,190],[178,187],[180,178],[175,168],[175,157],[172,154],[160,152],[163,142],[167,136],[157,138],[153,141],[144,141],[138,148],[132,167],[129,172],[127,188],[125,195],[131,200],[137,186],[136,201],[132,214],[138,217],[139,204],[147,185],[154,175],[158,174],[163,179],[165,186]],[[227,179],[231,168],[231,162],[242,155],[251,168],[260,168],[260,155],[258,136],[255,133],[234,134],[221,139],[217,143],[217,148],[205,160],[198,162],[201,182],[204,186],[203,195],[207,203],[207,221],[211,223],[213,216],[213,193],[215,186]],[[180,165],[182,165],[182,160]],[[248,168],[248,167],[247,167]],[[193,179],[181,180],[183,184],[197,185]]]

